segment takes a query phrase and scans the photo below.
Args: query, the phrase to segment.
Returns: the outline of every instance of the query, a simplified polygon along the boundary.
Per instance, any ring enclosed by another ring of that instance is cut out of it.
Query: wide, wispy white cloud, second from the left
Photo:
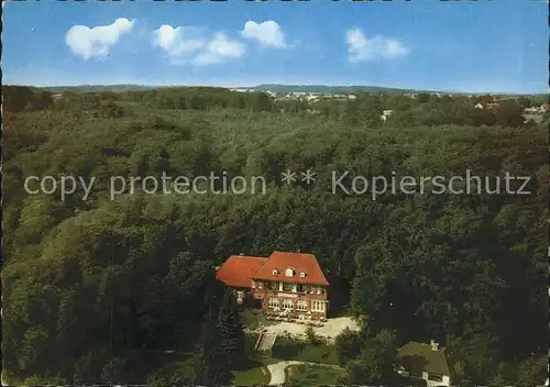
[[[196,27],[162,25],[154,31],[153,45],[166,52],[172,64],[193,63],[199,66],[220,64],[244,55],[246,47],[223,33],[207,36]]]

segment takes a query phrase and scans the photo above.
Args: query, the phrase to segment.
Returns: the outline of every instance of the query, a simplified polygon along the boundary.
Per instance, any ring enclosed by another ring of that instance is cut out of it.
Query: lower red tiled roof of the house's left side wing
[[[266,261],[256,256],[231,255],[216,272],[216,278],[228,286],[250,288],[250,277]]]

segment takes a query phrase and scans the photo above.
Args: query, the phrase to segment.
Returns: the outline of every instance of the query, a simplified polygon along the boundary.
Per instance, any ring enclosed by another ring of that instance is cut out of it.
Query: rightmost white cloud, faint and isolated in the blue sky
[[[406,56],[409,53],[409,49],[398,41],[381,35],[366,38],[359,29],[348,30],[345,41],[351,63],[394,59]]]

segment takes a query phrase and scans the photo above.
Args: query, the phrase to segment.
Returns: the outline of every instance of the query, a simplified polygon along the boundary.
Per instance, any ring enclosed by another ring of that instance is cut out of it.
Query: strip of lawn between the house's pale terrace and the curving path
[[[287,338],[278,338],[272,352],[273,357],[285,361],[339,365],[337,347],[323,342],[310,344]]]

